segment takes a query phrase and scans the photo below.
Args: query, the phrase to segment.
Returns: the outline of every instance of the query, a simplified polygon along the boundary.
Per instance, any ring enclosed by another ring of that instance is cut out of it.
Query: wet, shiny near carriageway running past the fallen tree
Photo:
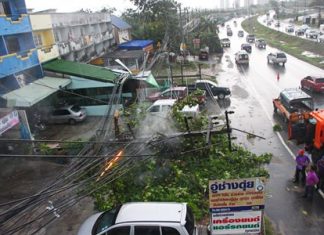
[[[221,61],[222,71],[217,79],[219,84],[231,88],[232,96],[230,100],[220,102],[220,106],[222,109],[235,111],[231,115],[232,127],[265,138],[247,138],[246,134],[234,130],[236,144],[256,154],[273,153],[272,162],[268,166],[271,177],[267,184],[265,212],[281,234],[323,234],[324,200],[319,193],[315,193],[312,201],[303,199],[302,185],[292,183],[295,167],[293,154],[298,146],[294,142],[287,142],[284,132],[281,135],[273,132],[272,128],[276,122],[281,125],[284,123],[273,115],[272,99],[284,88],[299,87],[303,77],[324,72],[289,55],[285,67],[268,64],[267,54],[276,49],[257,49],[254,44],[250,65],[237,66],[234,54],[240,50],[240,45],[245,43],[246,34],[239,38],[237,31],[241,28],[234,27],[233,22],[229,24],[233,30],[233,36],[230,37],[231,47],[225,49]],[[220,29],[220,38],[227,37],[226,29]],[[316,95],[314,98],[316,107],[324,107],[324,95]]]

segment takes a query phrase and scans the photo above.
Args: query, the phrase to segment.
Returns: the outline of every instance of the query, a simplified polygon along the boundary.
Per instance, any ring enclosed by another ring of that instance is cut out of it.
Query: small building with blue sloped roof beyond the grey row
[[[132,40],[131,26],[121,18],[112,15],[111,22],[113,25],[114,38],[117,44]]]

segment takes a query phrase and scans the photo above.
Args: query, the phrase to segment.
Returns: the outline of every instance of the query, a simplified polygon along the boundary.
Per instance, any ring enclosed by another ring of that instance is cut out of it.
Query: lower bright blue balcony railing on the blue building
[[[36,49],[0,56],[0,78],[39,64]]]

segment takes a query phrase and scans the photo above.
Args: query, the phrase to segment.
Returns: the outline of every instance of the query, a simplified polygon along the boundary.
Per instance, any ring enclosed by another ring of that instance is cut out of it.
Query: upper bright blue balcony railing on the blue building
[[[31,32],[31,25],[27,15],[20,15],[17,20],[13,20],[6,15],[0,15],[0,35],[18,34]]]

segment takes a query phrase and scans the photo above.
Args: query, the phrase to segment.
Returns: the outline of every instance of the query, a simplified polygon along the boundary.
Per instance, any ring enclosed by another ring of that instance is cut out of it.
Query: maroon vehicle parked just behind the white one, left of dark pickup
[[[183,99],[188,95],[188,89],[185,86],[171,87],[163,92],[155,92],[147,97],[151,102],[162,99]]]

